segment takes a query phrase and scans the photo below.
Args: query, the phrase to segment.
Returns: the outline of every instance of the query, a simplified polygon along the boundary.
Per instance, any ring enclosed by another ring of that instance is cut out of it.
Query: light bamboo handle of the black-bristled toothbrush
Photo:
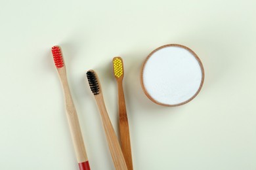
[[[117,170],[127,170],[127,165],[125,163],[125,159],[123,158],[123,153],[117,140],[114,127],[112,126],[110,118],[108,117],[108,112],[106,110],[102,94],[100,93],[95,95],[95,99],[97,101],[98,108],[100,109],[100,114],[108,141],[108,147],[110,148],[110,153],[112,155],[114,165]]]

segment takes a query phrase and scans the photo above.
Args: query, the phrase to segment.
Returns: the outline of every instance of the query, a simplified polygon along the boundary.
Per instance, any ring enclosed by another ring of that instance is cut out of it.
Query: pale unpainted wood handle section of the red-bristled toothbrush
[[[62,82],[62,87],[64,91],[64,99],[66,104],[66,116],[68,118],[68,124],[70,126],[70,133],[72,136],[72,141],[75,148],[75,154],[78,163],[88,161],[87,154],[85,151],[85,145],[83,143],[83,136],[81,133],[79,120],[77,117],[77,112],[75,110],[74,102],[70,93],[70,88],[68,86],[68,80],[66,76],[66,67],[61,67],[57,69],[58,75]]]

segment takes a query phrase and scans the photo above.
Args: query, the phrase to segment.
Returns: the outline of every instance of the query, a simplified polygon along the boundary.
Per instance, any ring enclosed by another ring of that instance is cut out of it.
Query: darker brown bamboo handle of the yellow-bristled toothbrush
[[[133,170],[133,159],[131,154],[131,141],[129,132],[129,123],[127,118],[125,95],[123,93],[123,83],[117,81],[118,86],[118,104],[119,104],[119,134],[121,139],[121,149],[129,170]]]

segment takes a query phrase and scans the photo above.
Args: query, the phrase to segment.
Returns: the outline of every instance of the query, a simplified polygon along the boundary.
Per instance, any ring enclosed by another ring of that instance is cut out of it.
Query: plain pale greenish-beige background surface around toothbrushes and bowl
[[[114,169],[85,80],[95,69],[117,130],[111,59],[125,62],[135,170],[256,169],[256,1],[0,1],[0,169],[77,169],[51,46],[62,46],[92,170]],[[142,61],[184,44],[205,67],[193,101],[161,107]]]

